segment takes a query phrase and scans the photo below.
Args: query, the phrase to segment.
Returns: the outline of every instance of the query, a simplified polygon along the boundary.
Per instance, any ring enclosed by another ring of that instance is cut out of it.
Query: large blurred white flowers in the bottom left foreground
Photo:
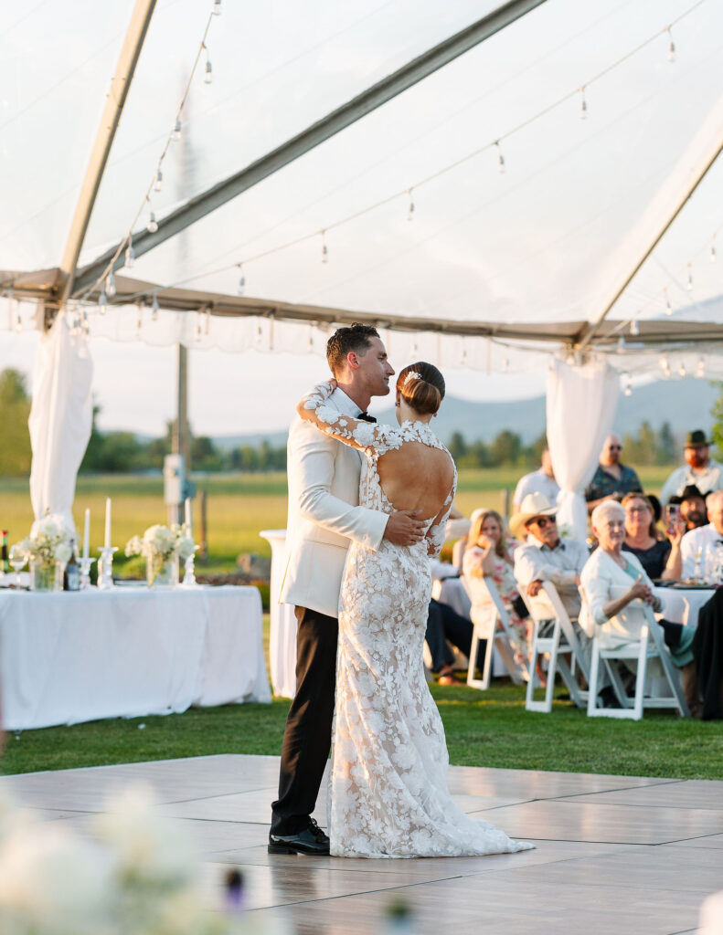
[[[218,913],[200,888],[192,841],[147,786],[111,799],[81,837],[0,802],[3,935],[242,935],[263,930]],[[234,917],[235,916],[235,917]],[[278,929],[274,929],[278,930]]]

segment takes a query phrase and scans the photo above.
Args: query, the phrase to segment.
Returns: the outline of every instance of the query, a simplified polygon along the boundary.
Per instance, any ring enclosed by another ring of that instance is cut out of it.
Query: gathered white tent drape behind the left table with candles
[[[93,362],[87,340],[58,315],[37,352],[28,426],[33,450],[30,498],[36,519],[47,511],[73,524],[78,468],[93,424]]]

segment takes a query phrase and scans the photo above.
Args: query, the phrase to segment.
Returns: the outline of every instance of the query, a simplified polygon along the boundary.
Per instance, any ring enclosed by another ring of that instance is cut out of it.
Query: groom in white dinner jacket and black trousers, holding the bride
[[[328,405],[357,419],[372,396],[387,396],[394,373],[376,328],[352,324],[327,343],[337,388]],[[359,504],[362,455],[298,416],[288,433],[288,565],[280,600],[296,608],[296,697],[281,751],[279,798],[272,804],[269,852],[329,854],[311,817],[332,743],[338,604],[349,540],[378,549],[423,536],[419,511],[388,515]]]

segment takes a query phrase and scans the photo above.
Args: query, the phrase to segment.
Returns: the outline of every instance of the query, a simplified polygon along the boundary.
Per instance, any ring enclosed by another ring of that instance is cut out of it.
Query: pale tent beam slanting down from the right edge
[[[701,137],[703,137],[702,140]],[[714,165],[721,151],[723,151],[723,97],[718,99],[716,107],[713,108],[701,129],[701,133],[696,135],[691,141],[690,146],[678,163],[678,165],[681,165],[681,163],[683,165],[690,165],[683,191],[677,194],[671,206],[667,208],[664,221],[660,223],[658,220],[657,226],[655,226],[648,235],[644,235],[645,245],[642,249],[642,253],[638,255],[632,266],[628,268],[623,280],[613,287],[612,295],[606,300],[598,317],[595,321],[589,321],[585,324],[579,334],[574,338],[573,347],[576,351],[584,351],[590,346],[600,324],[608,317],[617,300],[623,295],[627,286],[636,277],[647,258],[656,249],[658,243],[662,237],[664,237],[673,221],[685,208],[691,195],[701,184],[701,181],[705,178],[709,169]],[[656,207],[654,202],[651,208],[655,209]],[[645,218],[643,217],[642,223],[644,222]],[[656,224],[656,221],[654,220],[652,223]]]

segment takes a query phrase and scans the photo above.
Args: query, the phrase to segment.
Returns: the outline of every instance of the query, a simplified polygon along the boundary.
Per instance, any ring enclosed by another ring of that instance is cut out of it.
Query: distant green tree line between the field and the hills
[[[133,432],[102,432],[96,424],[98,413],[96,407],[81,472],[111,474],[163,468],[163,458],[170,452],[170,423],[162,438],[139,439]],[[0,477],[27,476],[31,460],[27,428],[30,395],[26,378],[18,370],[8,368],[0,372],[0,414]],[[714,408],[714,418],[713,438],[723,448],[723,393]],[[532,444],[525,444],[516,432],[509,429],[499,432],[490,442],[468,440],[461,432],[455,432],[449,442],[450,453],[458,468],[536,468],[544,446],[544,434]],[[667,422],[659,429],[643,422],[637,434],[624,437],[623,461],[633,467],[680,464],[683,461],[683,439],[675,437]],[[267,441],[232,450],[219,448],[207,436],[197,436],[191,441],[193,470],[270,471],[285,470],[286,466],[286,447],[274,448]]]

